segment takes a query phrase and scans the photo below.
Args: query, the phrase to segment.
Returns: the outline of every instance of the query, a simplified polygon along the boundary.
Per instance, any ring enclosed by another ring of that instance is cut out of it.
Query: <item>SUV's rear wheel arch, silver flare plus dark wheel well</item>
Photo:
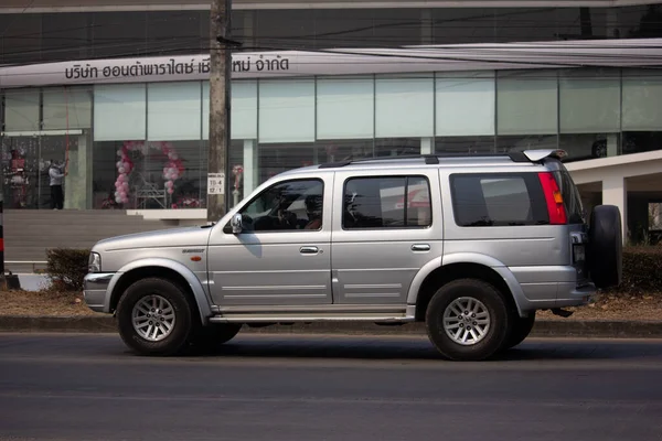
[[[478,279],[496,288],[520,316],[526,299],[513,273],[499,260],[484,255],[462,254],[444,257],[441,265],[424,267],[412,283],[407,304],[415,305],[415,320],[424,321],[437,290],[458,279]],[[427,269],[427,270],[426,270]]]

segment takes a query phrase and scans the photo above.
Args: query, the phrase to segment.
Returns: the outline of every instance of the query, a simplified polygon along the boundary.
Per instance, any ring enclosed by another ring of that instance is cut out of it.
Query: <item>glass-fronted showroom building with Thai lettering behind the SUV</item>
[[[47,3],[0,9],[6,207],[50,207],[49,166],[66,161],[65,208],[204,218],[209,10]],[[402,3],[348,14],[238,2],[232,204],[276,173],[346,158],[662,149],[658,4]]]

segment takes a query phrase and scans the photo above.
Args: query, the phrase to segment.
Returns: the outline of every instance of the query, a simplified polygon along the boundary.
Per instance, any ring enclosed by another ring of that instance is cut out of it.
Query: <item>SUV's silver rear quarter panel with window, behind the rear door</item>
[[[572,232],[553,219],[543,182],[549,169],[522,166],[442,171],[445,263],[467,252],[494,259],[515,276],[531,301],[554,299],[558,283],[576,280]]]

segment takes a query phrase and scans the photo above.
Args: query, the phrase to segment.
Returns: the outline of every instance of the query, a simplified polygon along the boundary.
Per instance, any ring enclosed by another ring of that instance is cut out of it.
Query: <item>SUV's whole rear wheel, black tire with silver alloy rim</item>
[[[503,346],[511,323],[503,295],[481,280],[455,280],[441,287],[428,305],[428,336],[446,358],[480,361]]]

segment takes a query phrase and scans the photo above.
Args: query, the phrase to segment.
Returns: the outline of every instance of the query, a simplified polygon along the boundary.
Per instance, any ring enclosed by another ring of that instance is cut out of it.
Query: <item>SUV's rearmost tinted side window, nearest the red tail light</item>
[[[543,189],[535,173],[452,174],[450,186],[459,226],[549,223]]]

